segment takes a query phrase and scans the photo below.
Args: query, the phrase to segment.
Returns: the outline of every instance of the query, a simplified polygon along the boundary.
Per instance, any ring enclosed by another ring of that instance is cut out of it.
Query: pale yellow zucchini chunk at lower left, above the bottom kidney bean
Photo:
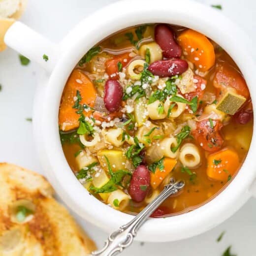
[[[105,157],[109,160],[113,171],[126,168],[127,158],[122,150],[103,149],[97,153],[97,157],[101,167],[108,172],[108,166]]]

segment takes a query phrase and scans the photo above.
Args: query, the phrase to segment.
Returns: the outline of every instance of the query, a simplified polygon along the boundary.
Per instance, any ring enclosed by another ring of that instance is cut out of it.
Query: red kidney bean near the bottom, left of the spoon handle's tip
[[[141,202],[147,195],[150,185],[150,172],[145,165],[139,165],[132,174],[129,195],[135,202]]]

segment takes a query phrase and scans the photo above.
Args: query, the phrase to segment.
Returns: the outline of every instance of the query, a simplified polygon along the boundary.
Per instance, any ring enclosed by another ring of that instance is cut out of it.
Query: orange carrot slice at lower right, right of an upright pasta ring
[[[208,156],[207,176],[214,180],[228,181],[240,166],[238,154],[224,149]]]

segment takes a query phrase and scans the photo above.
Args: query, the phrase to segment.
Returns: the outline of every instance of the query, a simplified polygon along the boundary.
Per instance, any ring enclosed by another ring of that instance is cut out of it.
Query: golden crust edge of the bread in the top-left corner
[[[23,14],[27,6],[27,0],[21,0],[19,4],[19,9],[9,17],[0,17],[0,52],[5,50],[6,45],[3,41],[4,35],[9,29],[9,27],[18,20]]]

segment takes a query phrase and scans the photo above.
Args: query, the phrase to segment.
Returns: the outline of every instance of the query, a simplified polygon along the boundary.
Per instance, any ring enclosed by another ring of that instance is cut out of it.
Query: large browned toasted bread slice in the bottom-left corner
[[[46,179],[0,163],[0,256],[86,256],[96,249]],[[19,207],[28,216],[18,218]]]

